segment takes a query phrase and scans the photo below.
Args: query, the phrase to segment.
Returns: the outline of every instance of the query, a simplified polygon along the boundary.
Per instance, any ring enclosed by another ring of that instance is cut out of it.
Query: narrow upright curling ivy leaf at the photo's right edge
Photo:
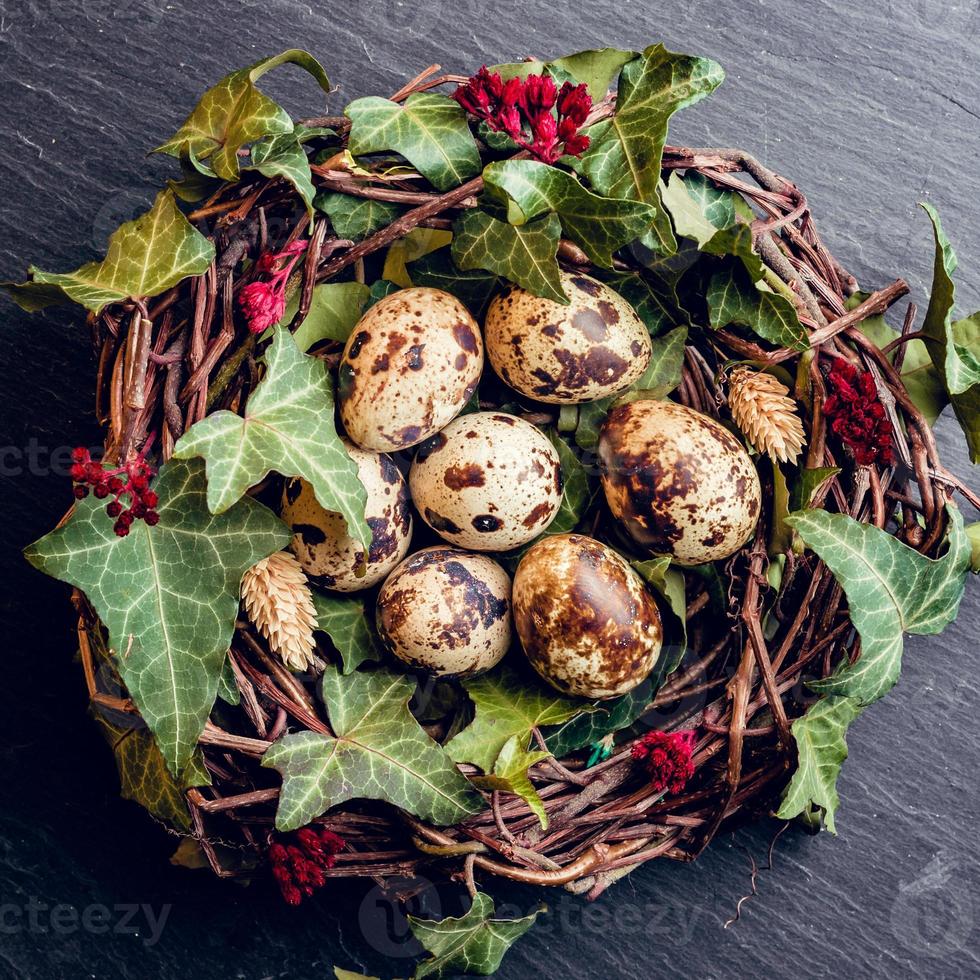
[[[936,242],[932,294],[922,324],[929,356],[943,380],[970,446],[970,458],[980,463],[980,313],[953,321],[956,287],[956,253],[943,231],[939,214],[923,204],[932,221]]]

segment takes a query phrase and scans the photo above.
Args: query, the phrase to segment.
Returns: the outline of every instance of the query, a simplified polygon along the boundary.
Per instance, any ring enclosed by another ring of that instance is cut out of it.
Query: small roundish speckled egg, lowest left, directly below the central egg
[[[410,555],[378,595],[378,632],[416,670],[472,677],[511,641],[510,577],[486,555],[445,545]]]

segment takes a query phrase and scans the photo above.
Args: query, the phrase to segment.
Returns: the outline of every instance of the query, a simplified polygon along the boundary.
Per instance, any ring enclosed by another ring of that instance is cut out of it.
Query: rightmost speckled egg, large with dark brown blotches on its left
[[[667,401],[609,413],[599,437],[609,509],[637,544],[685,565],[727,558],[759,519],[759,475],[714,419]]]

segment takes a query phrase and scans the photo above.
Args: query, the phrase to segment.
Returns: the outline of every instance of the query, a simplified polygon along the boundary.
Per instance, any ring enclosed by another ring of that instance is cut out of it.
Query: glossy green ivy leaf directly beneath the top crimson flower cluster
[[[574,174],[537,160],[490,163],[483,180],[507,204],[513,225],[554,211],[565,234],[596,264],[607,269],[613,253],[639,238],[653,223],[656,209],[642,201],[599,197],[586,190]]]

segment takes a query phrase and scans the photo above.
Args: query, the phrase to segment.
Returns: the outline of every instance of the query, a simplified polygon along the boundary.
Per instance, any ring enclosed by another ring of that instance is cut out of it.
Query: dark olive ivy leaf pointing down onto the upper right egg
[[[556,214],[518,227],[474,208],[456,221],[453,261],[460,269],[485,269],[567,306],[555,257],[560,238]]]

